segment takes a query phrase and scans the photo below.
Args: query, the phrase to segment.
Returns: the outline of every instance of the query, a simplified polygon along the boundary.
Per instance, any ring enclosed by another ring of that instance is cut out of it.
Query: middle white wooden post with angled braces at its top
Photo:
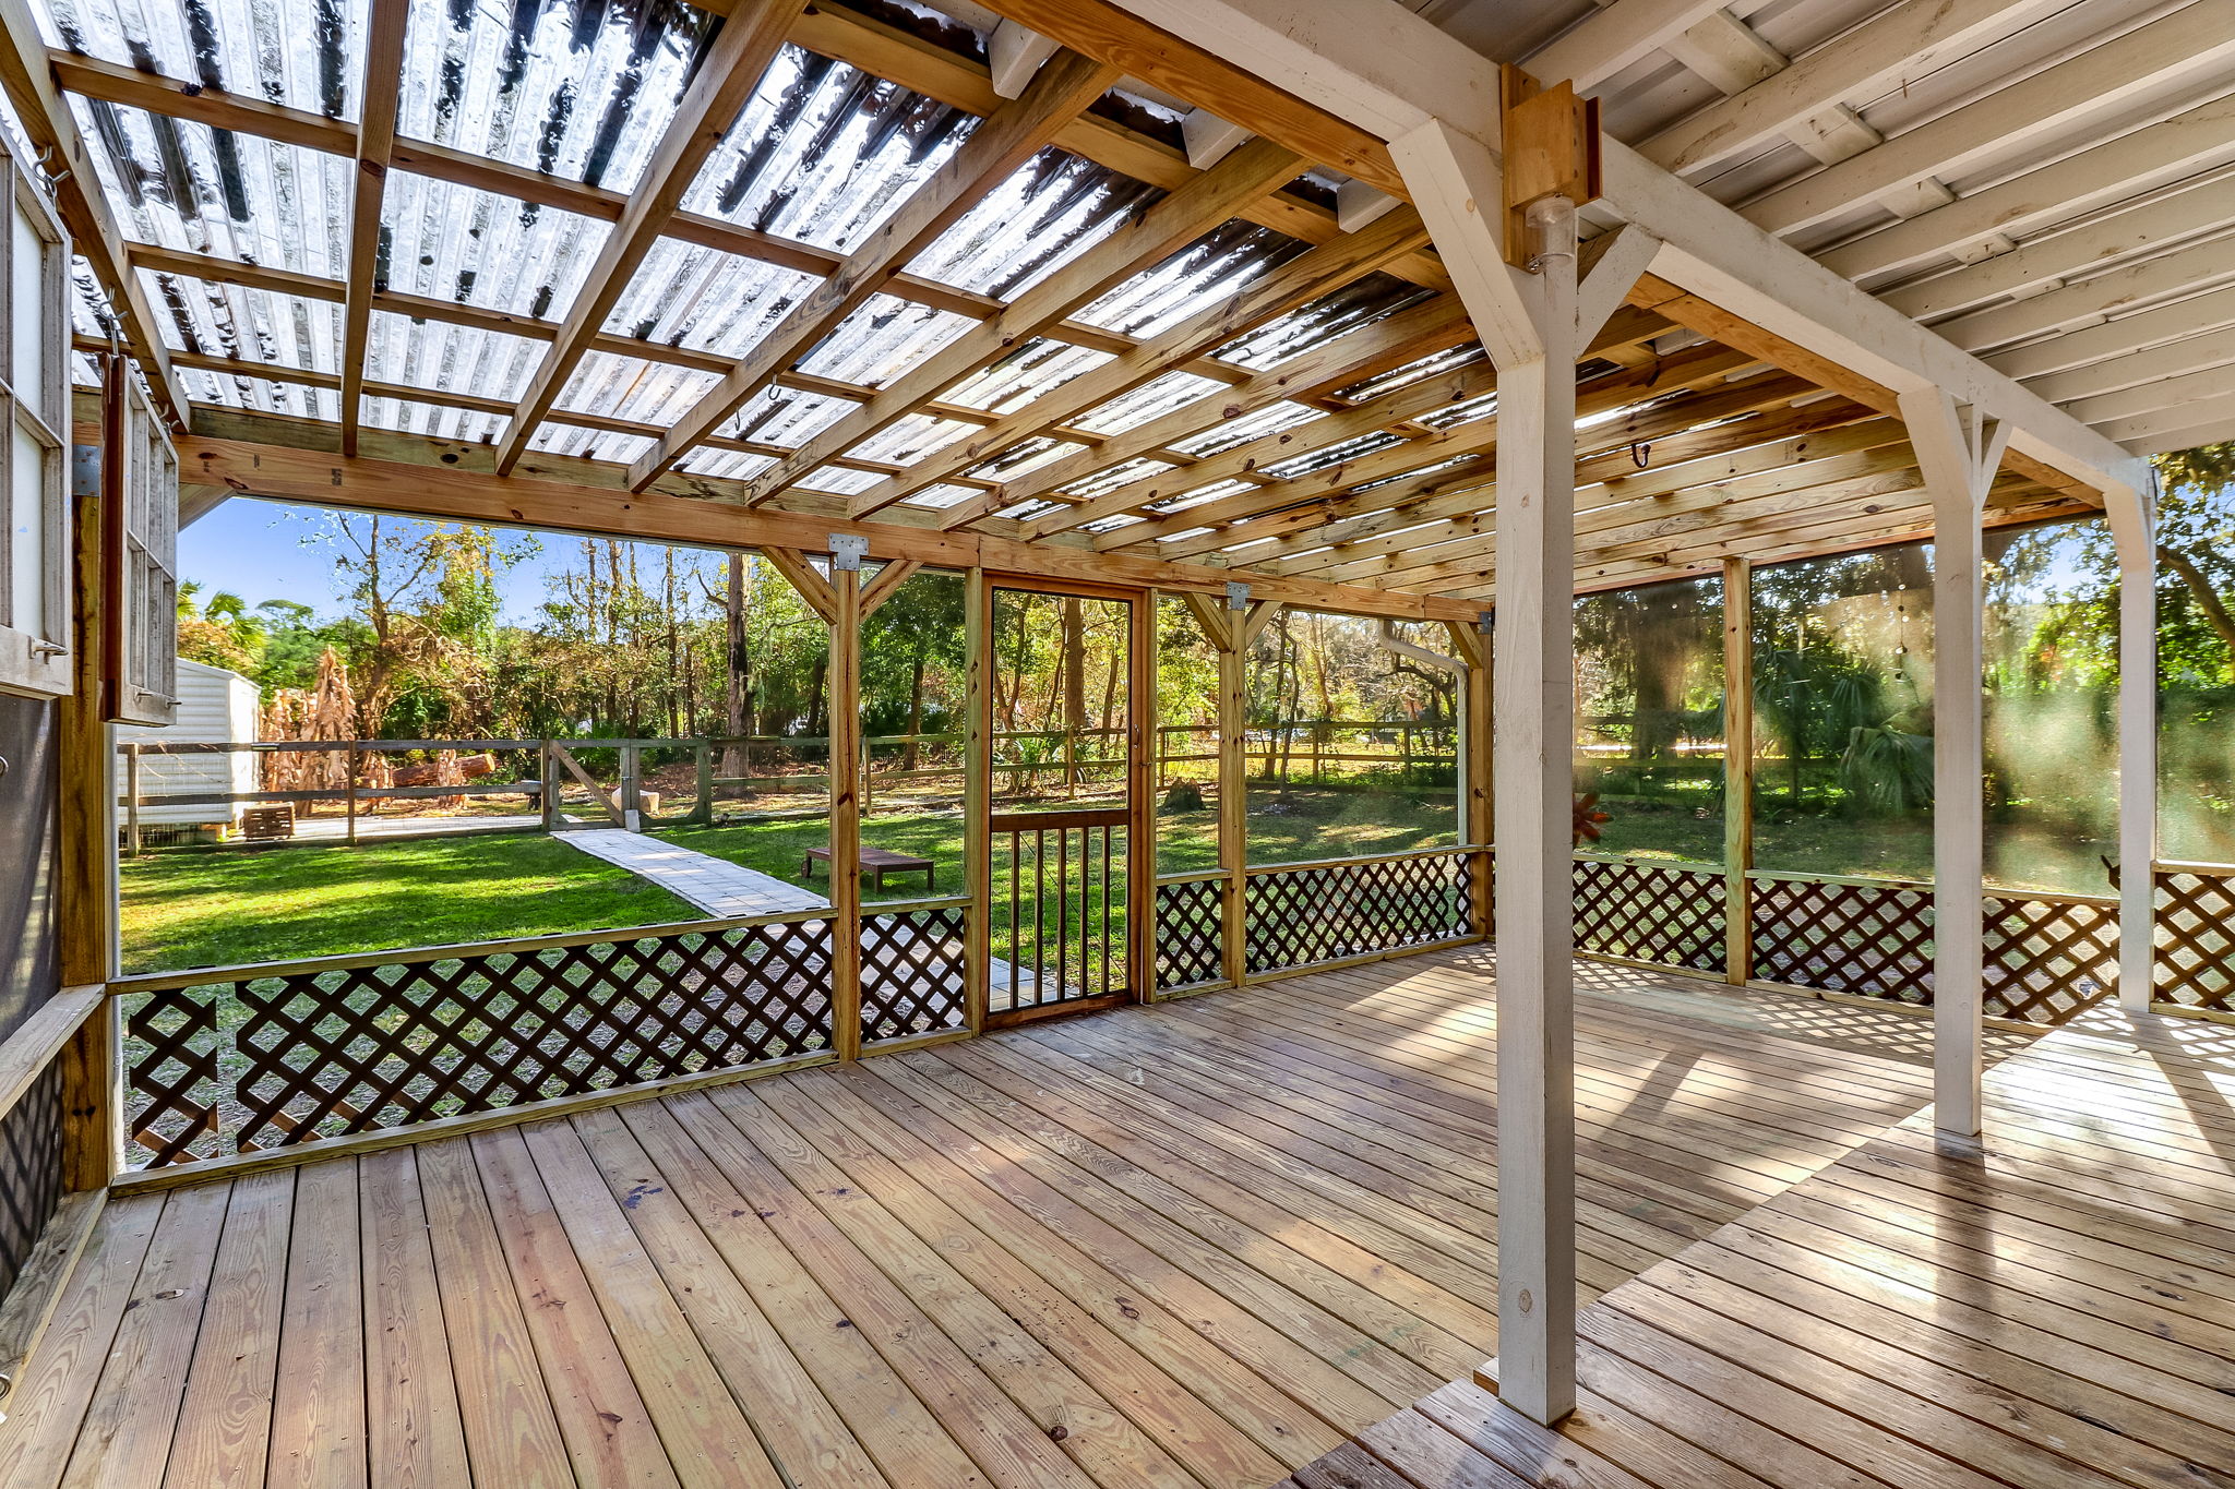
[[[1933,1125],[1980,1132],[1985,1054],[1985,547],[1987,487],[2009,431],[1940,388],[1902,393],[1933,496]]]

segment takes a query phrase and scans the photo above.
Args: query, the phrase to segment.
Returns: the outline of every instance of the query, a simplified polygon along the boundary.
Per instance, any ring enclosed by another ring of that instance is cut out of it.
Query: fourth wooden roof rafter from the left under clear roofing
[[[641,491],[675,460],[704,442],[776,373],[805,357],[856,308],[876,295],[910,259],[952,228],[979,196],[1039,154],[1066,123],[1109,92],[1118,71],[1077,54],[1059,54],[1039,69],[1015,103],[995,109],[961,150],[901,203],[845,266],[818,284],[791,315],[744,355],[733,373],[706,391],[682,420],[630,469]]]

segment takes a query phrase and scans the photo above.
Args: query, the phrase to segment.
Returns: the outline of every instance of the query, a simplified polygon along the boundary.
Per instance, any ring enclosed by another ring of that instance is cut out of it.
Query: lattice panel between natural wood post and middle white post
[[[1900,884],[1752,880],[1754,976],[1835,993],[1933,1000],[1933,897]]]

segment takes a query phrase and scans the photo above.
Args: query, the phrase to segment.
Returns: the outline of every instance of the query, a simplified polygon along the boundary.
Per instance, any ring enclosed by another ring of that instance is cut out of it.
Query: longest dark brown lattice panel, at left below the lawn
[[[827,1049],[820,920],[695,922],[116,984],[148,1165]]]

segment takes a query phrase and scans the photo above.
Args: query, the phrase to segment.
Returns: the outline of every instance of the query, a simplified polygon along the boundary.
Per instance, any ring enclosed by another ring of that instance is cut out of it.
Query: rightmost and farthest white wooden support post
[[[2119,1007],[2141,1014],[2157,984],[2157,540],[2130,500],[2105,509],[2119,542]]]

